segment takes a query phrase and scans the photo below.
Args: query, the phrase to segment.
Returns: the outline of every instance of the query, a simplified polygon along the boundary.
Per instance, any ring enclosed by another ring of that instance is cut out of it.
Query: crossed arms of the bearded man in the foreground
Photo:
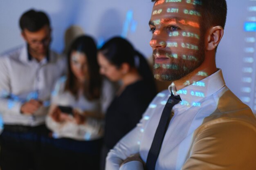
[[[140,139],[138,127],[121,139],[108,154],[106,170],[144,170],[138,154]],[[255,157],[255,125],[227,121],[198,129],[181,170],[255,170]]]

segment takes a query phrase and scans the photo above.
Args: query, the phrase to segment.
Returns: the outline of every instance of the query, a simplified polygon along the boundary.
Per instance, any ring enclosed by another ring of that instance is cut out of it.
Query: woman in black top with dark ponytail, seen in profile
[[[100,73],[120,82],[117,95],[106,112],[102,169],[107,153],[141,119],[156,95],[153,74],[145,58],[123,38],[112,38],[98,52]]]

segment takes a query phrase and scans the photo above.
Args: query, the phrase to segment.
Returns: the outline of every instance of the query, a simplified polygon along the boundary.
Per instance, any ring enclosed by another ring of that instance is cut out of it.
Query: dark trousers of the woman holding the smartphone
[[[101,144],[101,139],[45,139],[41,170],[99,170]]]

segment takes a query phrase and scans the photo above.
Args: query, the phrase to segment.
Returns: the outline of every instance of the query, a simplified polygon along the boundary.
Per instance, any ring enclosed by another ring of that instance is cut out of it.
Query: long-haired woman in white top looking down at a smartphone
[[[56,83],[46,119],[52,130],[48,169],[98,170],[103,117],[114,88],[102,79],[97,48],[89,36],[74,40],[68,53],[67,77]],[[48,152],[45,151],[45,152]]]

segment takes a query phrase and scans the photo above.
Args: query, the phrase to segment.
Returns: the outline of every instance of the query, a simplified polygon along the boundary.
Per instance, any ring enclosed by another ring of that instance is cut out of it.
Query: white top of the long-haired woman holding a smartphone
[[[71,106],[78,110],[92,111],[95,114],[104,114],[115,95],[115,89],[112,83],[103,79],[101,97],[92,101],[86,99],[83,94],[80,94],[78,99],[69,91],[65,91],[66,77],[61,77],[56,83],[52,93],[52,106]],[[67,137],[76,140],[94,140],[103,136],[103,121],[94,118],[86,118],[83,124],[76,124],[73,116],[70,116],[71,121],[56,122],[48,114],[46,125],[53,131],[53,137]]]

